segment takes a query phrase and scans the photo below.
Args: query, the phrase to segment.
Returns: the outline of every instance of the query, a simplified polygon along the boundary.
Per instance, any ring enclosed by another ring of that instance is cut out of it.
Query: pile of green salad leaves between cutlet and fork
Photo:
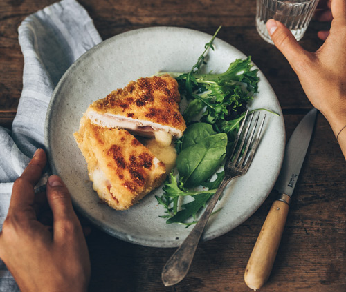
[[[221,74],[200,73],[208,50],[214,50],[217,32],[190,72],[176,77],[179,92],[188,101],[183,112],[188,128],[176,141],[176,171],[166,180],[163,195],[156,196],[165,208],[166,214],[161,217],[167,224],[196,223],[198,212],[224,178],[224,171],[217,171],[237,135],[246,105],[258,91],[260,79],[258,70],[251,70],[251,57],[235,60]],[[188,197],[188,202],[183,201],[178,208],[179,200]]]

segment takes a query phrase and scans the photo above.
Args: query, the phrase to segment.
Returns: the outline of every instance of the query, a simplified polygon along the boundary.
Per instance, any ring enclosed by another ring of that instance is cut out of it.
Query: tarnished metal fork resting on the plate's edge
[[[212,210],[214,209],[221,193],[224,191],[230,180],[244,175],[246,171],[248,171],[248,168],[253,160],[253,156],[255,155],[258,142],[260,141],[260,135],[263,128],[264,119],[266,117],[264,115],[260,123],[260,127],[257,130],[257,135],[253,140],[258,119],[260,117],[260,114],[258,114],[255,122],[253,123],[254,125],[251,133],[248,135],[248,131],[250,130],[253,121],[253,114],[254,113],[251,113],[251,115],[248,117],[248,111],[246,111],[246,115],[241,126],[239,127],[230,157],[224,166],[224,180],[221,182],[216,193],[212,196],[212,199],[210,199],[206,211],[204,211],[204,213],[201,215],[196,226],[194,226],[188,237],[185,238],[183,244],[181,244],[172,257],[170,257],[170,260],[168,260],[168,262],[165,264],[161,274],[161,278],[165,286],[172,286],[185,278],[185,275],[190,269],[194,252],[197,249],[197,245],[203,233],[204,227],[206,226],[210,214],[212,213]]]

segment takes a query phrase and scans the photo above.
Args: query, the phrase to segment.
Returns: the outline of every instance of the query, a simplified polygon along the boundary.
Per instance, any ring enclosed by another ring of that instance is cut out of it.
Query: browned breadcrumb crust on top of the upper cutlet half
[[[186,124],[179,112],[179,101],[176,79],[163,75],[131,81],[125,88],[95,101],[88,110],[151,121],[183,132]]]

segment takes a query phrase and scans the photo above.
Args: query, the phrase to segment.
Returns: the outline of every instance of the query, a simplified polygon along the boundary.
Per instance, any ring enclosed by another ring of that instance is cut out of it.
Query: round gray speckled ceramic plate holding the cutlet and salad
[[[145,28],[133,30],[103,41],[84,54],[67,70],[55,88],[46,117],[45,143],[53,173],[64,179],[73,204],[91,222],[107,233],[135,244],[156,247],[179,246],[192,228],[166,224],[155,195],[147,195],[129,211],[114,211],[93,191],[73,132],[80,117],[96,99],[122,88],[131,80],[155,75],[159,71],[188,72],[203,52],[211,36],[185,28]],[[215,39],[210,51],[207,72],[223,72],[231,61],[246,56],[228,43]],[[232,230],[250,217],[268,196],[279,174],[284,154],[284,120],[270,84],[260,75],[260,93],[251,108],[268,108],[280,116],[267,114],[264,135],[248,173],[226,188],[210,217],[203,240],[210,240]]]

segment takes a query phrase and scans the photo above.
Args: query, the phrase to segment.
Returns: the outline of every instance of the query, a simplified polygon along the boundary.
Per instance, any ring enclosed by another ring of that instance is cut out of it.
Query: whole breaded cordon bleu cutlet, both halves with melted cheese
[[[89,106],[73,135],[102,202],[127,210],[163,183],[175,165],[173,140],[186,128],[179,101],[176,80],[164,75],[131,81]]]

